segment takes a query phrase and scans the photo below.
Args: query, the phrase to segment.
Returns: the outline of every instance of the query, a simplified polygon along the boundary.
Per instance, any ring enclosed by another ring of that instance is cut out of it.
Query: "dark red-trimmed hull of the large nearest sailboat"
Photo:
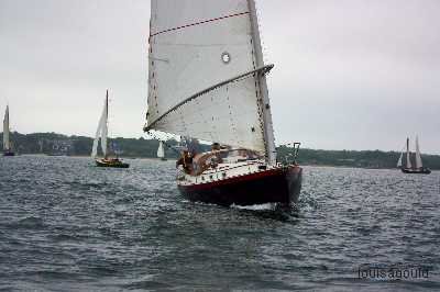
[[[302,169],[297,166],[279,167],[209,183],[178,186],[190,201],[224,206],[298,202]]]

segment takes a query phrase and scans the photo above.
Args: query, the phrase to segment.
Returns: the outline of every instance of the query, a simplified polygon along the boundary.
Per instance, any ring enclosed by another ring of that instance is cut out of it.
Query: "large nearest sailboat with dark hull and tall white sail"
[[[211,142],[184,149],[180,193],[253,205],[298,201],[302,169],[276,160],[254,0],[152,0],[144,131]]]

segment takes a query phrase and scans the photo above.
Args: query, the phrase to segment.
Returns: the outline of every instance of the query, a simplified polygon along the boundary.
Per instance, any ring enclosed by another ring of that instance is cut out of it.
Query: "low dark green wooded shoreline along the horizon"
[[[0,134],[2,139],[2,134]],[[34,133],[20,134],[11,133],[13,148],[19,154],[59,154],[59,148],[64,155],[88,156],[91,153],[94,139],[86,136],[66,136],[56,133]],[[158,141],[146,138],[109,138],[109,145],[116,143],[122,150],[121,156],[132,158],[154,158],[157,154]],[[177,141],[169,139],[168,146],[176,146]],[[209,149],[205,146],[204,149]],[[287,146],[277,148],[277,159],[280,162],[292,162],[294,149]],[[178,151],[165,147],[168,158],[177,158]],[[400,153],[381,150],[322,150],[322,149],[300,149],[297,162],[300,165],[316,166],[338,166],[338,167],[359,167],[359,168],[395,168]],[[439,155],[422,155],[424,165],[431,169],[440,169]]]

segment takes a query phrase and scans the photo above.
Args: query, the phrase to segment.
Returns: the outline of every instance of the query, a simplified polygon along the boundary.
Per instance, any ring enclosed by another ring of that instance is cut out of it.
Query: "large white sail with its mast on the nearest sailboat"
[[[152,0],[148,114],[155,130],[275,160],[253,0]]]

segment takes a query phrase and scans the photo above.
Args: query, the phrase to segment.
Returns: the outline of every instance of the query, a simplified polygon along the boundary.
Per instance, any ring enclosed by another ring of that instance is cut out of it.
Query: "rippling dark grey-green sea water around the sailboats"
[[[1,291],[440,291],[440,172],[305,167],[296,210],[243,209],[127,161],[0,158]]]

